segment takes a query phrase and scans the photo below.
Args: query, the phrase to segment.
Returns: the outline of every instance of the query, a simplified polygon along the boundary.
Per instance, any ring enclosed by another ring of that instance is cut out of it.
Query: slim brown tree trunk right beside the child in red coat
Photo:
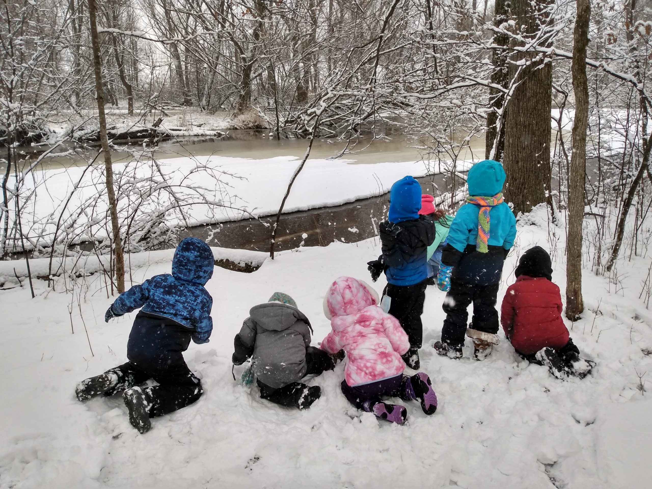
[[[582,222],[584,221],[584,175],[586,128],[589,118],[589,85],[586,78],[586,46],[589,44],[591,0],[576,0],[577,18],[573,34],[572,87],[575,119],[572,125],[572,155],[569,171],[569,226],[566,244],[566,317],[575,321],[584,311],[582,300]]]

